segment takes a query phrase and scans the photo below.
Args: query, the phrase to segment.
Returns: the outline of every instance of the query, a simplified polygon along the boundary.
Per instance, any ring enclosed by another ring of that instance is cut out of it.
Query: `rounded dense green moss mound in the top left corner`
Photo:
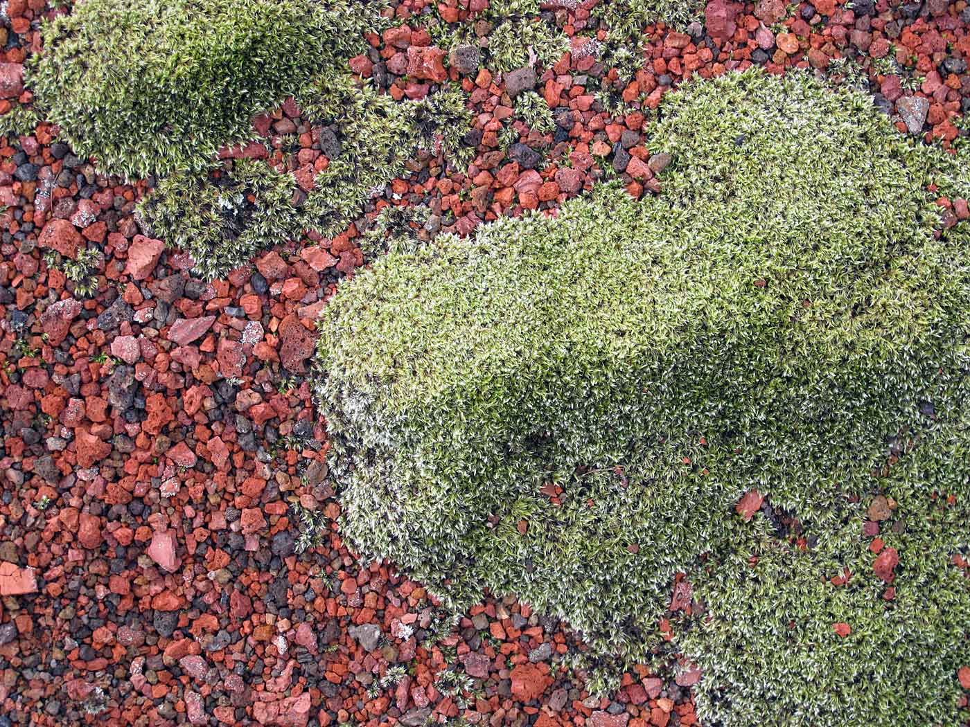
[[[364,47],[382,0],[84,0],[44,27],[31,81],[79,154],[129,177],[199,171]]]

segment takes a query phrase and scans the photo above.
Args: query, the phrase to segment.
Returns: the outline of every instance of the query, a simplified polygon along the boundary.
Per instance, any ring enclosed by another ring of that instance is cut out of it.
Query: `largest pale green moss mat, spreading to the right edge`
[[[686,574],[705,723],[955,725],[970,236],[933,202],[970,184],[806,76],[666,99],[659,197],[400,246],[339,289],[318,395],[346,535],[454,607],[517,593],[614,669],[663,661]]]

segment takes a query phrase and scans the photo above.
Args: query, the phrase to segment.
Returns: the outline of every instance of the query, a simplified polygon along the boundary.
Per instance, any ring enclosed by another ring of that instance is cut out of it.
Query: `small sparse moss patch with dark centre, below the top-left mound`
[[[149,234],[188,252],[195,271],[211,279],[300,234],[295,188],[292,174],[236,159],[211,173],[162,179],[138,210]]]

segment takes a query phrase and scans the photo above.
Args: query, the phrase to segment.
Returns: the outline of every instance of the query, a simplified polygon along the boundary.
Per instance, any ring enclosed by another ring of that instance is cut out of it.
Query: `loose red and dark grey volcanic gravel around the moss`
[[[442,7],[461,19],[481,4]],[[753,63],[865,84],[901,133],[962,141],[964,0],[712,0],[687,32],[645,28],[631,82],[598,62],[593,5],[549,3],[548,19],[572,38],[552,68],[502,76],[473,58],[452,64],[467,64],[447,73],[473,107],[467,174],[415,160],[370,216],[429,205],[425,235],[468,234],[604,177],[649,194],[666,160],[642,132],[663,93]],[[30,102],[22,64],[51,12],[43,0],[6,3],[0,113]],[[395,98],[428,93],[442,52],[416,29],[421,13],[421,0],[397,5],[399,27],[372,35],[351,68]],[[630,108],[602,109],[588,89],[603,78]],[[520,125],[520,142],[502,149],[512,97],[529,89],[556,128]],[[262,142],[226,153],[311,179],[321,130],[294,104],[255,126]],[[290,135],[299,149],[281,150]],[[697,723],[695,671],[673,680],[638,670],[612,701],[591,698],[562,666],[579,648],[562,624],[486,599],[442,630],[420,584],[344,547],[307,373],[314,317],[363,263],[358,226],[281,244],[207,283],[184,254],[142,234],[133,212],[145,182],[98,174],[48,123],[0,144],[0,727]],[[964,201],[946,204],[967,216]],[[98,252],[93,296],[63,265],[85,247]],[[295,552],[295,503],[325,523],[306,553]],[[671,607],[690,608],[689,598]],[[970,673],[960,677],[970,688]]]

